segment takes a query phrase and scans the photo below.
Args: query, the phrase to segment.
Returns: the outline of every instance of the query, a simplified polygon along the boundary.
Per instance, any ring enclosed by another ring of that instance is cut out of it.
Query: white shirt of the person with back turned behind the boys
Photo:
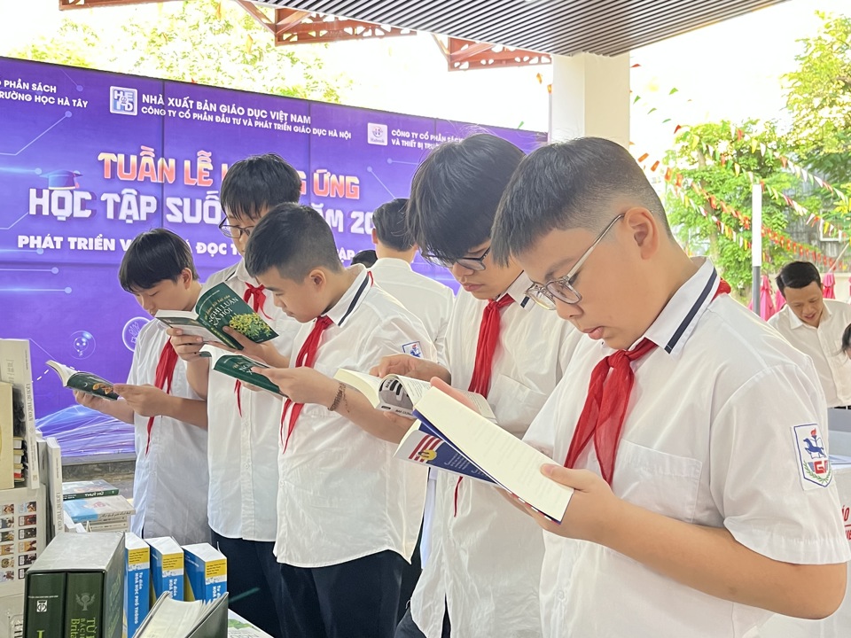
[[[370,272],[376,284],[420,318],[437,348],[437,360],[444,362],[446,329],[455,302],[452,289],[415,273],[410,263],[401,259],[382,257]]]

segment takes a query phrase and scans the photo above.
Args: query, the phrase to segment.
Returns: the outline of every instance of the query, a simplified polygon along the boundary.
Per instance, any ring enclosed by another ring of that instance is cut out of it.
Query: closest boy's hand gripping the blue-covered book
[[[574,488],[561,523],[553,523],[511,494],[504,493],[505,498],[533,517],[547,532],[605,545],[606,534],[615,532],[618,527],[624,503],[605,480],[592,471],[568,470],[550,463],[541,466],[541,473],[556,483]]]

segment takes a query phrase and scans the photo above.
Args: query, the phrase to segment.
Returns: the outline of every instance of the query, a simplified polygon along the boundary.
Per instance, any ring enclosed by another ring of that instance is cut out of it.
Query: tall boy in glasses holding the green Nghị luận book
[[[297,202],[301,177],[275,154],[236,162],[222,182],[226,215],[219,228],[243,255],[248,237],[269,209]],[[225,282],[254,308],[278,337],[262,345],[230,331],[244,346],[240,354],[285,365],[299,323],[273,303],[262,284],[246,271],[240,259],[215,273],[206,287]],[[213,545],[228,557],[230,607],[273,636],[282,636],[278,606],[282,600],[280,571],[273,554],[277,525],[277,423],[281,399],[272,393],[251,392],[233,378],[210,371],[211,360],[199,356],[198,338],[172,343],[186,360],[193,388],[207,397],[209,415],[209,517]],[[215,361],[213,361],[215,363]]]

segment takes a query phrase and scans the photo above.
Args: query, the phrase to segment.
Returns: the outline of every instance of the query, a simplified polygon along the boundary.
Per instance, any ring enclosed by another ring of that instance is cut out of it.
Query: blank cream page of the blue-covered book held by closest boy
[[[436,388],[415,409],[442,439],[451,440],[453,447],[511,494],[553,520],[564,517],[573,490],[541,474],[541,466],[552,463],[550,458]]]

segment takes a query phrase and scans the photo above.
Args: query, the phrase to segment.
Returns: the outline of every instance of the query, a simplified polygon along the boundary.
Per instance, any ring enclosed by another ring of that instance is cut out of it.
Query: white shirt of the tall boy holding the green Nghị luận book
[[[222,282],[240,297],[246,292],[246,283],[259,285],[248,276],[243,261],[211,276],[205,290]],[[300,323],[275,306],[271,292],[266,293],[262,311],[263,319],[278,334],[272,343],[279,352],[288,354]],[[235,386],[232,377],[210,370],[207,390],[210,527],[227,538],[274,541],[281,399],[272,393],[242,389],[240,415]]]

